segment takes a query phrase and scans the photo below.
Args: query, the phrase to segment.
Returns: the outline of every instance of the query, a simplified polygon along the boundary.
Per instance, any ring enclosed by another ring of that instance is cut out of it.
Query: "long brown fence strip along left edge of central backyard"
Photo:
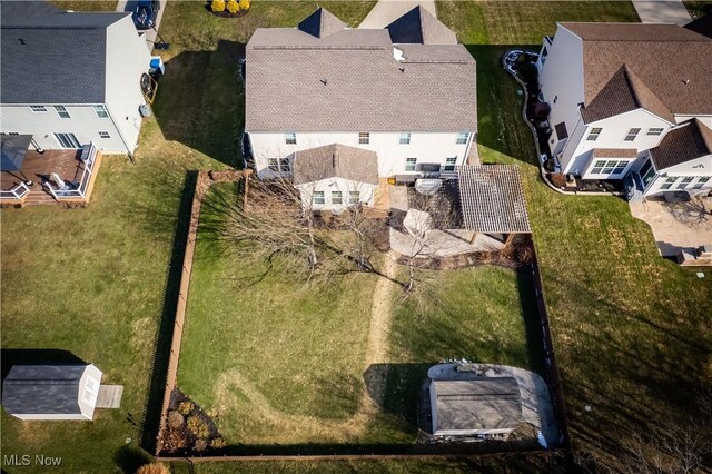
[[[200,220],[200,206],[202,198],[207,194],[210,186],[215,182],[231,182],[245,179],[249,181],[251,170],[244,171],[198,171],[196,180],[196,189],[192,195],[192,204],[190,207],[190,220],[188,227],[188,239],[186,241],[186,251],[182,257],[182,271],[180,274],[180,289],[178,292],[178,305],[176,307],[176,318],[174,319],[174,332],[170,342],[170,353],[168,358],[168,371],[166,374],[166,388],[164,392],[164,404],[160,411],[160,424],[158,427],[158,436],[156,440],[155,454],[158,456],[162,448],[164,431],[168,419],[168,405],[170,404],[170,394],[176,388],[176,377],[178,375],[178,357],[180,356],[180,344],[182,342],[182,328],[186,319],[186,308],[188,306],[188,289],[190,287],[190,274],[192,273],[192,257],[196,251],[196,240],[198,237],[198,223]],[[245,189],[247,192],[247,188]],[[247,194],[245,195],[247,199]]]

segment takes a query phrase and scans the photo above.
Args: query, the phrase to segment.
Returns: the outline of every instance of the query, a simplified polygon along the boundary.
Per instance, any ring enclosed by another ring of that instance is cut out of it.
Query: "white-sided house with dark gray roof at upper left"
[[[131,154],[141,126],[140,88],[150,55],[130,12],[66,12],[3,2],[2,132],[34,147]]]

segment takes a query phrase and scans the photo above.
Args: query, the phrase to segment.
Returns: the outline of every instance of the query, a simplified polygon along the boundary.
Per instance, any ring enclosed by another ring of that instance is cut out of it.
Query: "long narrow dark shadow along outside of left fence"
[[[139,441],[140,446],[149,453],[155,452],[156,436],[158,435],[158,428],[160,425],[170,345],[172,342],[174,322],[176,319],[176,309],[178,307],[180,277],[182,273],[186,244],[188,240],[190,209],[197,177],[198,174],[196,171],[188,171],[185,177],[178,219],[175,227],[170,264],[166,277],[164,307],[155,337],[156,352],[154,353],[154,361],[151,364],[150,386],[148,389],[147,401],[144,406]]]

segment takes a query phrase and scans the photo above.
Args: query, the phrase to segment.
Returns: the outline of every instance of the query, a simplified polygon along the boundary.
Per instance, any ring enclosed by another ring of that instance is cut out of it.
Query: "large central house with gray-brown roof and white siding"
[[[247,45],[245,131],[260,178],[304,174],[300,157],[335,144],[343,162],[352,147],[375,154],[380,178],[454,176],[476,147],[476,106],[475,60],[419,7],[373,30],[320,8],[298,28],[259,28]],[[342,178],[375,182],[363,172]],[[317,206],[348,206],[335,196]]]

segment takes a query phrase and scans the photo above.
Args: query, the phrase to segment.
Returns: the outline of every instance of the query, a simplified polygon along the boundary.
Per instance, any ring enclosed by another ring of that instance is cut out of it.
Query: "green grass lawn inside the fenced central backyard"
[[[315,288],[279,267],[265,274],[241,265],[229,244],[212,238],[234,188],[216,185],[204,203],[178,369],[178,387],[217,415],[234,452],[407,446],[429,365],[453,358],[533,365],[525,325],[535,317],[531,287],[496,267],[433,274],[424,307],[394,286],[387,355],[367,365],[378,277],[349,274]],[[366,416],[364,386],[379,405]]]

